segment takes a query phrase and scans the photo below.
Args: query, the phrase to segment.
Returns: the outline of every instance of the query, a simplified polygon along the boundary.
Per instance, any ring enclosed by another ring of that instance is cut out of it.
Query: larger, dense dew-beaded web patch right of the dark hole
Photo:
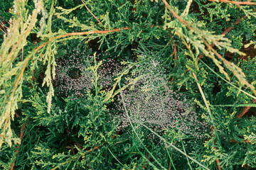
[[[194,111],[191,98],[171,90],[164,72],[160,70],[159,62],[152,60],[132,76],[142,78],[124,90],[123,98],[118,97],[116,107],[119,112],[112,115],[112,120],[119,125],[117,130],[128,128],[131,120],[137,128],[144,124],[158,133],[176,128],[181,135],[193,135],[198,140],[205,138],[208,125]]]

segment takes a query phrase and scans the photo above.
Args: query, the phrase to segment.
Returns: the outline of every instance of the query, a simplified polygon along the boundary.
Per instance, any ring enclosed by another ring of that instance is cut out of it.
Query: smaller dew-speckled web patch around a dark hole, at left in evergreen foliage
[[[74,49],[71,55],[63,55],[57,61],[55,91],[58,96],[75,96],[85,98],[88,91],[92,90],[95,77],[90,66],[93,66],[94,56],[87,54],[88,52]],[[97,69],[97,74],[100,76],[98,86],[103,90],[110,91],[112,89],[112,80],[121,72],[121,64],[116,60],[111,59],[110,53],[97,54],[96,60],[100,62],[101,58],[110,57],[110,60],[102,60],[102,65]]]

